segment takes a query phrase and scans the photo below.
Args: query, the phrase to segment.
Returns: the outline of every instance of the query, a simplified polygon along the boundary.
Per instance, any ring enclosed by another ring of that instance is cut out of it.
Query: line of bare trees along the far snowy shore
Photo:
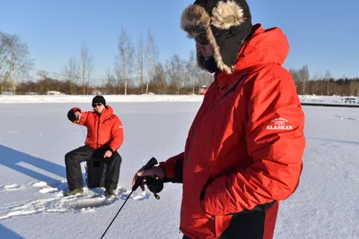
[[[46,94],[56,90],[68,95],[102,94],[196,94],[203,85],[209,85],[213,76],[197,67],[196,53],[190,51],[187,59],[172,55],[160,62],[151,31],[139,38],[136,46],[125,28],[118,37],[115,61],[102,79],[93,79],[93,56],[83,40],[79,55],[69,56],[61,73],[33,69],[27,44],[17,35],[0,32],[0,93]],[[36,72],[36,79],[31,73]],[[298,94],[359,96],[359,79],[334,79],[325,75],[310,77],[308,65],[289,69]]]

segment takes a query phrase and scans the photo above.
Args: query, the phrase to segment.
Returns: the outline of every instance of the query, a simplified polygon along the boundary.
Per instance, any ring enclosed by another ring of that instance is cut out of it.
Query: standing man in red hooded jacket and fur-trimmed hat
[[[305,148],[301,103],[282,66],[285,34],[252,25],[245,0],[197,0],[182,13],[181,28],[215,81],[184,152],[140,170],[134,183],[157,175],[183,184],[183,238],[273,238],[279,201],[299,184]]]

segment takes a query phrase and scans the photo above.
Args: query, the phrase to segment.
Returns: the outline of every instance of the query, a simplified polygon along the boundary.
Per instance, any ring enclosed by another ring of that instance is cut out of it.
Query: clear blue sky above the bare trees
[[[79,58],[83,39],[93,56],[93,78],[113,66],[121,27],[136,44],[151,30],[160,60],[188,57],[193,40],[180,30],[189,0],[2,0],[0,30],[28,44],[34,68],[60,73],[70,56]],[[359,76],[359,1],[249,0],[253,23],[285,31],[291,49],[286,68],[308,64],[311,75]]]

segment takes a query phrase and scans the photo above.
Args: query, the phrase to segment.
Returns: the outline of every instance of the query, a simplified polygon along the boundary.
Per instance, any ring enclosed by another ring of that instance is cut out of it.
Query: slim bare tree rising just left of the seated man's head
[[[86,86],[93,73],[93,57],[89,55],[89,48],[83,40],[81,48],[81,78],[83,79],[83,95],[86,94]]]

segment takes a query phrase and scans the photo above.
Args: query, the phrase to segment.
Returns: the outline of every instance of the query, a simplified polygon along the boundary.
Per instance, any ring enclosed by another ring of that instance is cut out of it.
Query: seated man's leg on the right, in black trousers
[[[115,190],[118,187],[119,171],[122,163],[122,158],[118,151],[113,152],[110,158],[104,158],[106,167],[106,189]]]

